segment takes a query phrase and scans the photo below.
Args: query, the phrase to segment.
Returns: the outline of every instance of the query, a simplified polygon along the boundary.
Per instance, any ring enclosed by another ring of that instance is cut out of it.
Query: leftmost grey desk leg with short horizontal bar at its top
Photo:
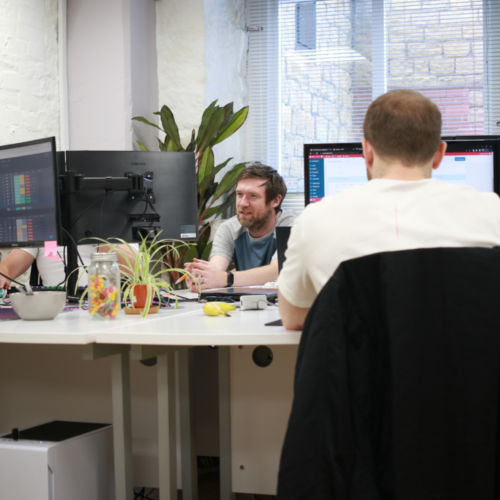
[[[116,498],[123,500],[134,498],[129,351],[130,346],[114,344],[89,344],[83,349],[84,360],[111,356],[115,490]]]

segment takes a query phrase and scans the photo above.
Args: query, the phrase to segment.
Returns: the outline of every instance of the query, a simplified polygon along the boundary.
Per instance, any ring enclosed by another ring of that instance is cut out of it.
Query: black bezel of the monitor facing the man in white
[[[446,139],[446,140],[445,140]],[[442,140],[448,144],[447,152],[462,152],[462,149],[472,148],[474,145],[488,146],[493,149],[493,192],[500,196],[500,179],[499,179],[499,164],[500,164],[500,137],[497,136],[478,136],[477,139],[449,139],[448,136]],[[304,201],[305,206],[309,205],[309,153],[311,149],[345,149],[346,153],[360,148],[361,142],[332,142],[321,144],[304,144]],[[354,152],[354,151],[352,151]]]

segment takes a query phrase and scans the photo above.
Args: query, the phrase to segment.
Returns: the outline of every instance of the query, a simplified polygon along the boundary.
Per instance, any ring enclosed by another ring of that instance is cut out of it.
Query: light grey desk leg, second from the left
[[[157,357],[160,500],[177,500],[175,352]]]

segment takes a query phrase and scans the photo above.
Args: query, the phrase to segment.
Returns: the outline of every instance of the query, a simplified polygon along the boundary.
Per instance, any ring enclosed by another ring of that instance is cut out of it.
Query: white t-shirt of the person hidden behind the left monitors
[[[136,252],[139,246],[136,243],[130,245]],[[25,248],[21,247],[22,250],[28,252],[34,259],[36,259],[36,265],[38,267],[38,272],[42,277],[43,284],[45,286],[57,286],[59,284],[64,285],[66,280],[64,276],[64,265],[62,261],[53,261],[45,257],[44,248]],[[88,266],[90,265],[90,254],[97,251],[96,245],[78,245],[78,252],[80,253],[83,263]],[[62,259],[64,256],[64,247],[57,247],[57,253]],[[66,249],[66,260],[68,259],[68,251]],[[81,266],[80,259],[78,259],[78,265]],[[81,276],[78,286],[87,286],[87,273],[81,269],[78,271]]]

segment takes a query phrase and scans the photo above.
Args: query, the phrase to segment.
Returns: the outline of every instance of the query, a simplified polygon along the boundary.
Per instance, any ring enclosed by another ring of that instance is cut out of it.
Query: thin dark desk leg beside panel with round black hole
[[[229,385],[229,347],[219,346],[219,439],[220,498],[234,500],[231,479],[231,407]]]

